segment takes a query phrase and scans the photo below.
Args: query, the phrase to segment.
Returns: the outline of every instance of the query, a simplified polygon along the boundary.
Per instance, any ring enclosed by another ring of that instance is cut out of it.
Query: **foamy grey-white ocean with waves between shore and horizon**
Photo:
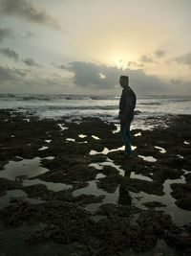
[[[119,98],[120,96],[0,94],[0,109],[28,111],[41,119],[65,117],[76,120],[82,117],[98,117],[117,123]],[[152,128],[155,124],[146,123],[145,120],[148,118],[190,114],[190,109],[191,97],[138,97],[137,115],[132,128]]]

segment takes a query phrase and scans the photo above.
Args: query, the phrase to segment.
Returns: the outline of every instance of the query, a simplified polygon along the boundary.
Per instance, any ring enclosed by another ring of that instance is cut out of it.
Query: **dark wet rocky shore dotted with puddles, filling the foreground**
[[[145,124],[125,158],[115,123],[1,110],[1,254],[191,255],[191,116]]]

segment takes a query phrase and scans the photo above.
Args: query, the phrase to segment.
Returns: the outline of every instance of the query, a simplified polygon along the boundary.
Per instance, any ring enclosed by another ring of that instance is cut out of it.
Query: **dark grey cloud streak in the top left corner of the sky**
[[[2,0],[1,10],[5,14],[22,17],[28,21],[59,30],[58,22],[46,11],[32,5],[29,0]]]

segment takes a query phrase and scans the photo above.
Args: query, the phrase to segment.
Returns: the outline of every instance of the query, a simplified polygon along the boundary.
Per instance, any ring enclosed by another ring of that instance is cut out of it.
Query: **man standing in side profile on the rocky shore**
[[[121,76],[119,83],[123,88],[119,102],[120,136],[125,145],[125,155],[128,156],[132,152],[130,125],[134,119],[137,98],[135,92],[129,86],[129,78],[127,76]]]

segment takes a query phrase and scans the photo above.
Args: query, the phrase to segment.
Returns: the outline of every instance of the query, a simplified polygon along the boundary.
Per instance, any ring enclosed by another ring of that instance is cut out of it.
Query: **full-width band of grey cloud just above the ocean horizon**
[[[117,69],[91,62],[71,62],[67,70],[73,77],[66,77],[65,70],[56,72],[45,69],[10,68],[0,66],[1,93],[65,93],[65,94],[110,94],[119,95],[121,75],[130,78],[130,86],[140,95],[190,95],[191,82],[183,78],[162,81],[148,76],[142,69]],[[61,73],[60,73],[61,72]],[[63,72],[63,74],[62,74]]]

